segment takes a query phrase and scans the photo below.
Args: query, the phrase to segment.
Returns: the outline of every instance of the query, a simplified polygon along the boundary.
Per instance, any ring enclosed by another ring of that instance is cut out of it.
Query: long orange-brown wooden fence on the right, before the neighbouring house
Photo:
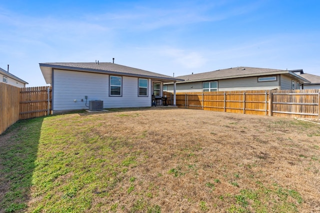
[[[250,90],[176,93],[188,109],[319,119],[319,90]]]

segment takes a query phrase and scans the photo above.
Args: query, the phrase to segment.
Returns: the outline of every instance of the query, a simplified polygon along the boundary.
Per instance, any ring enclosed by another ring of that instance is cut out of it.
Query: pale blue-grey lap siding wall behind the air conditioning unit
[[[54,70],[53,110],[88,109],[89,100],[103,100],[103,108],[151,106],[148,79],[148,96],[138,97],[138,79],[122,76],[122,96],[109,96],[109,75],[66,70]],[[83,101],[81,101],[83,99]],[[76,101],[74,101],[76,100]]]

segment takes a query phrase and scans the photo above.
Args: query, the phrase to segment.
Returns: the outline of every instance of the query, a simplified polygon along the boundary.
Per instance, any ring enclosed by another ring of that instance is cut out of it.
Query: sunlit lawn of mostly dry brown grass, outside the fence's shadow
[[[320,211],[318,124],[151,108],[53,116],[42,134],[50,128],[37,160],[59,158],[65,170],[55,187],[33,182],[28,211],[67,208],[67,201],[83,212]],[[89,202],[76,206],[81,200]]]

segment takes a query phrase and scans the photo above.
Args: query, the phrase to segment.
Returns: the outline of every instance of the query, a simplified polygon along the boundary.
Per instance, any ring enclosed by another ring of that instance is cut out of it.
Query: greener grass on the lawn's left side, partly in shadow
[[[13,145],[0,150],[0,175],[9,184],[0,209],[6,213],[25,210],[32,188],[32,199],[41,202],[31,205],[30,212],[98,212],[97,206],[92,206],[94,197],[111,196],[124,181],[124,173],[138,165],[136,155],[140,153],[127,150],[121,137],[92,134],[93,124],[86,122],[64,121],[62,115],[35,118],[18,121],[4,133],[17,130],[10,138]],[[69,131],[75,124],[80,126]],[[119,153],[124,158],[119,159]],[[135,177],[129,179],[128,194],[134,192],[134,181]],[[160,211],[159,206],[150,205],[137,201],[132,211]],[[109,210],[117,211],[119,206],[110,205]]]

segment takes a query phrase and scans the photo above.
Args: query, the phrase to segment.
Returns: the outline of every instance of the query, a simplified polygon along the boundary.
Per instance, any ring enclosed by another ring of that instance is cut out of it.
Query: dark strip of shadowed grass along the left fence
[[[43,118],[17,121],[0,135],[0,213],[27,207]]]

